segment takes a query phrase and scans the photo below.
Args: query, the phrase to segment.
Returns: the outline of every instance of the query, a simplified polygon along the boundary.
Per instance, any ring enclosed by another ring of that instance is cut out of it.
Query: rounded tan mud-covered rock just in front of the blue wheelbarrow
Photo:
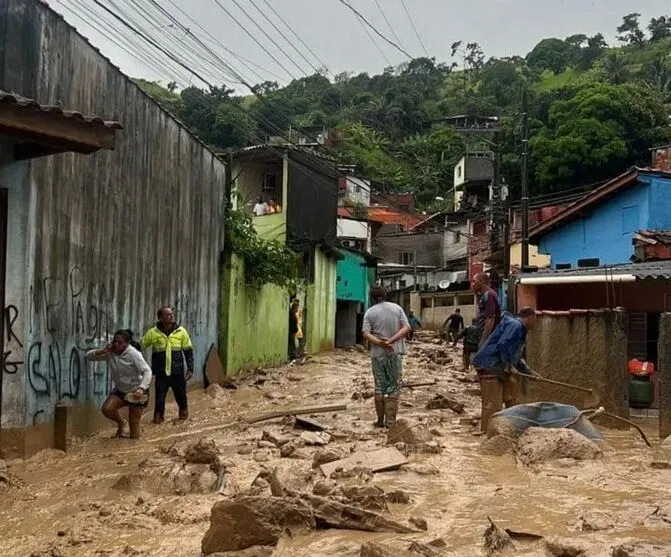
[[[572,429],[531,427],[517,439],[515,456],[520,464],[529,466],[559,458],[595,460],[603,457],[603,451]]]

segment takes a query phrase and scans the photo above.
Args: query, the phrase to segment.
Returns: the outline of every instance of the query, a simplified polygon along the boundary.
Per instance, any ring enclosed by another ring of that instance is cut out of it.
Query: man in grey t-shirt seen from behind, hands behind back
[[[405,337],[412,330],[403,308],[387,302],[384,288],[370,293],[373,306],[363,316],[363,337],[370,343],[371,366],[375,381],[375,427],[391,426],[396,421],[403,374]]]

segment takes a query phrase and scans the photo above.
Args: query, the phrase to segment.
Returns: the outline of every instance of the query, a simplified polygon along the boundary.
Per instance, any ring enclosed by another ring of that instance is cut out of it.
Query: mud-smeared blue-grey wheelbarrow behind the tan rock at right
[[[521,435],[530,427],[564,427],[574,420],[579,412],[580,410],[569,404],[534,402],[501,410],[501,412],[494,414],[492,419],[505,419],[515,428],[516,433]],[[569,429],[573,429],[593,441],[603,439],[599,430],[584,416]]]

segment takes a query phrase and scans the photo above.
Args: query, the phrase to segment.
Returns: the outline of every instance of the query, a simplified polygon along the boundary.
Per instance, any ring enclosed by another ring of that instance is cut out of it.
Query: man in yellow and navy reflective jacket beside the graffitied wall
[[[175,312],[162,307],[157,312],[158,321],[142,337],[142,350],[152,349],[151,369],[156,378],[154,423],[165,418],[165,397],[172,389],[179,407],[179,419],[189,417],[186,383],[193,377],[193,346],[189,333],[175,323]]]

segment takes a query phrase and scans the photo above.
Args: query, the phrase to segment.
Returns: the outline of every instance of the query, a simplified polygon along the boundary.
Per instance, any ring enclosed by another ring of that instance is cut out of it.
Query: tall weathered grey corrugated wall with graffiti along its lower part
[[[3,425],[99,405],[84,352],[173,305],[200,376],[217,339],[225,166],[41,2],[0,0],[0,88],[121,122],[116,148],[0,169],[9,189]],[[25,412],[25,417],[22,416]]]

